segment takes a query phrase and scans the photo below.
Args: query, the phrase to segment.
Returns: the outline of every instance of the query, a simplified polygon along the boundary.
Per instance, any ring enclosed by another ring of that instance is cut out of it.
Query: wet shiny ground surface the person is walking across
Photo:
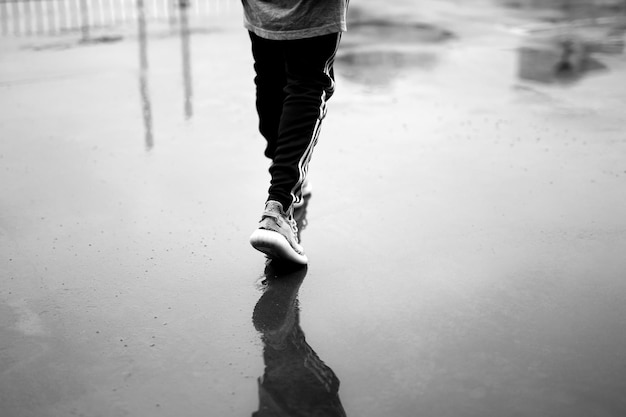
[[[353,5],[303,269],[239,8],[0,38],[0,414],[626,415],[626,21],[534,3]]]

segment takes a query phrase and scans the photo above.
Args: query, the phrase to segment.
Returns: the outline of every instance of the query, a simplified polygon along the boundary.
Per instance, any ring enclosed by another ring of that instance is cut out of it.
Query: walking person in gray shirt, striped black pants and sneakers
[[[259,131],[271,182],[250,243],[270,258],[306,264],[293,220],[334,91],[333,62],[348,0],[242,0],[256,77]]]

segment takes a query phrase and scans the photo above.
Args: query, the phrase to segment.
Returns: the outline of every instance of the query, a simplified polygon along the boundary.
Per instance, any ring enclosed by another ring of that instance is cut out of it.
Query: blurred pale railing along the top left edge
[[[139,0],[0,0],[0,36],[55,35],[136,22]],[[236,0],[143,0],[146,19],[172,21],[223,13]]]

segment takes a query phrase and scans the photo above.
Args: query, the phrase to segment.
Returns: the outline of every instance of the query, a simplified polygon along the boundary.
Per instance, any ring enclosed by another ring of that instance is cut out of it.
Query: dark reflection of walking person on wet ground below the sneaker
[[[298,289],[307,268],[271,261],[267,287],[252,317],[262,333],[265,372],[252,417],[345,417],[339,379],[313,351],[300,328]]]

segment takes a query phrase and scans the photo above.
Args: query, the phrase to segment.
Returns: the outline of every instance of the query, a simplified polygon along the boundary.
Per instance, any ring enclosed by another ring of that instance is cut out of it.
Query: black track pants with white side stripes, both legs
[[[341,34],[269,40],[250,33],[259,131],[272,160],[268,200],[285,210],[301,198],[326,102],[334,91],[333,62]]]

